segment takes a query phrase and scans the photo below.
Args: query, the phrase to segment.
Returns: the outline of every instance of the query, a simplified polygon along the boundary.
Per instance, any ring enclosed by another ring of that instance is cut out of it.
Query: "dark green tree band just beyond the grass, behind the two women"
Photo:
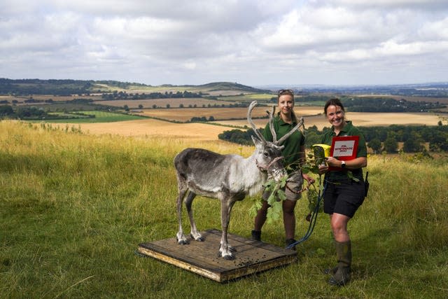
[[[374,153],[396,153],[398,144],[402,143],[402,151],[406,153],[417,153],[424,151],[424,144],[429,144],[429,150],[433,152],[448,151],[448,125],[443,125],[442,121],[437,126],[405,126],[389,125],[388,127],[358,127],[365,137],[367,146]],[[263,128],[259,129],[263,132]],[[314,125],[304,131],[305,146],[310,148],[313,144],[319,144],[323,132],[330,130],[324,127],[318,130]],[[234,129],[225,131],[218,135],[218,138],[225,141],[243,145],[252,145],[251,136],[255,136],[252,129],[246,131]]]

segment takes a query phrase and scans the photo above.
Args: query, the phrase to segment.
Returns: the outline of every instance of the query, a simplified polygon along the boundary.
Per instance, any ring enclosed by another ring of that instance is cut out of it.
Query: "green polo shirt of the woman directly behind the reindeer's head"
[[[281,119],[279,114],[274,117],[272,123],[277,135],[277,140],[285,136],[286,133],[290,132],[290,130],[292,130],[297,125],[297,123],[295,122],[291,124],[285,123]],[[271,130],[269,129],[269,123],[266,124],[265,131],[263,132],[263,137],[265,137],[266,141],[272,141],[272,134]],[[281,150],[281,154],[283,155],[283,157],[285,157],[283,165],[285,165],[288,173],[293,172],[299,168],[300,146],[304,146],[304,144],[305,138],[300,130],[296,130],[293,134],[290,135],[290,137],[283,141],[283,144],[280,144],[285,146],[283,150]]]

